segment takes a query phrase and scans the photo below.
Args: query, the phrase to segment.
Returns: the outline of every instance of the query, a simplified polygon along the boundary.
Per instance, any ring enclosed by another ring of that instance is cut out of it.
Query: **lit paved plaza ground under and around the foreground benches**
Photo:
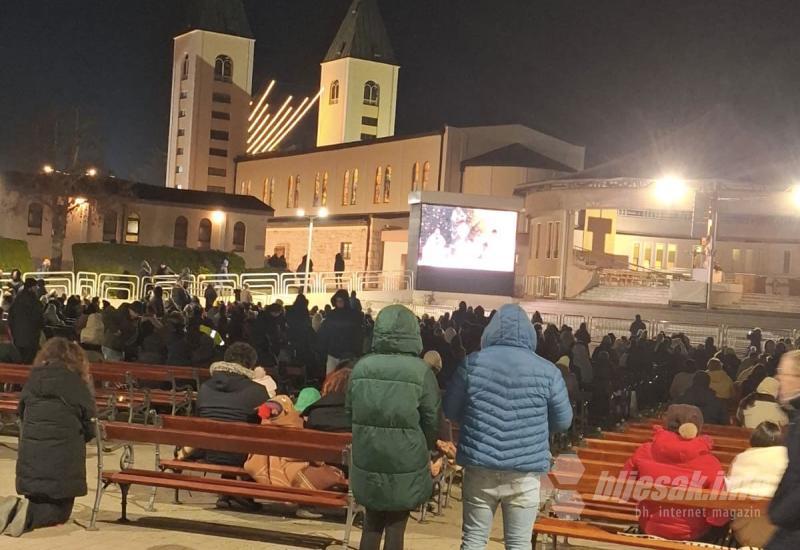
[[[0,436],[0,495],[14,494],[14,465],[16,437]],[[41,529],[19,539],[0,537],[0,548],[14,550],[234,550],[285,548],[341,548],[344,515],[328,520],[298,519],[288,508],[268,506],[258,514],[217,510],[216,497],[208,494],[181,494],[182,504],[172,503],[172,492],[159,490],[156,511],[144,507],[150,491],[131,488],[128,515],[131,522],[117,522],[120,515],[120,493],[111,487],[103,496],[99,530],[87,532],[81,525],[88,523],[94,500],[96,472],[95,451],[87,447],[86,469],[89,474],[89,494],[77,499],[72,521],[60,527]],[[137,446],[136,466],[151,468],[153,448]],[[107,464],[116,467],[118,454],[107,456]],[[455,487],[450,506],[442,516],[429,514],[425,523],[409,522],[406,535],[407,550],[457,550],[461,537],[460,490]],[[498,514],[499,516],[499,514]],[[358,547],[361,531],[353,530],[351,548]],[[570,541],[573,542],[573,541]],[[574,543],[573,543],[574,544]],[[559,545],[563,547],[562,544]],[[598,548],[592,544],[592,548]],[[502,544],[502,523],[497,517],[488,550],[499,550]],[[605,548],[610,548],[605,546]]]

